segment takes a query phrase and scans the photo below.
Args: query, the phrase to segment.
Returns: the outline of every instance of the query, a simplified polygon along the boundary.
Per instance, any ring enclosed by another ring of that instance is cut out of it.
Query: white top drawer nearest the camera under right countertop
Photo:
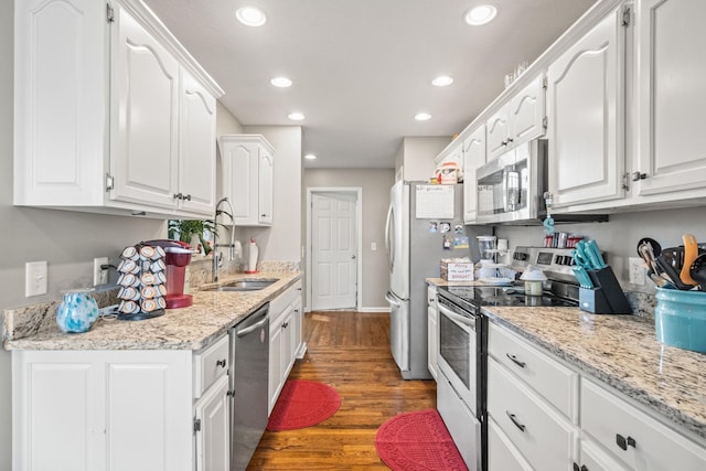
[[[581,428],[633,469],[706,469],[703,448],[586,378],[580,414]]]

